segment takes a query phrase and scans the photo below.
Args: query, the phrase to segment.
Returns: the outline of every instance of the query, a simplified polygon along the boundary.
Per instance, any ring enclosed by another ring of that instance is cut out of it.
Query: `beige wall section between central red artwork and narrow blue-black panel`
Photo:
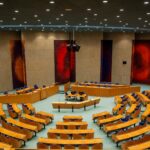
[[[100,32],[78,32],[75,34],[81,46],[76,53],[76,81],[100,81],[100,51],[103,34]]]

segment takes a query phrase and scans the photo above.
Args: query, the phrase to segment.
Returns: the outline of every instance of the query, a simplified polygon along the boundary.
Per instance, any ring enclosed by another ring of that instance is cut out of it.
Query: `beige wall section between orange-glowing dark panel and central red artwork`
[[[28,86],[55,82],[54,40],[67,39],[65,32],[22,32]]]

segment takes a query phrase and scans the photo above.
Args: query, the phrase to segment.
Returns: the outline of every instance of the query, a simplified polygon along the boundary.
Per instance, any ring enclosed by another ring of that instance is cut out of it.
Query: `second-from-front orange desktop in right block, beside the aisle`
[[[110,118],[98,120],[97,124],[101,128],[101,126],[104,125],[104,124],[115,122],[115,121],[118,121],[118,120],[120,120],[122,118],[123,118],[123,115],[117,115],[117,116],[113,116],[113,117],[110,117]]]

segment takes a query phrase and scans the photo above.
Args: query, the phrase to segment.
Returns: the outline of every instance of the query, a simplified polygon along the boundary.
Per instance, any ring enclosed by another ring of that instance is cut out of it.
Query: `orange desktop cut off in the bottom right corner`
[[[128,147],[128,150],[144,150],[150,148],[150,141],[145,141],[140,144]]]

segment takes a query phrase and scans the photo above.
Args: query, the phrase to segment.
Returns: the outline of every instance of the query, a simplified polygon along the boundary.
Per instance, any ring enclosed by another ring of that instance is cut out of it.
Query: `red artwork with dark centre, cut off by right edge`
[[[150,41],[133,42],[132,82],[150,84]]]

